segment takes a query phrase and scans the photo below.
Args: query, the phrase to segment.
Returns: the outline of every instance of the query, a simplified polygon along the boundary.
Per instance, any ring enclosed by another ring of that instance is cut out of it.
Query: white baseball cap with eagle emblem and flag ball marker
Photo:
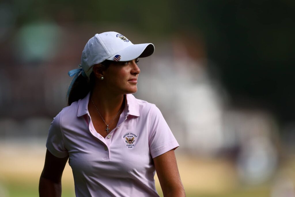
[[[152,43],[132,44],[118,32],[95,34],[86,43],[81,56],[81,67],[86,76],[90,76],[94,64],[105,60],[130,61],[152,55],[155,46]]]

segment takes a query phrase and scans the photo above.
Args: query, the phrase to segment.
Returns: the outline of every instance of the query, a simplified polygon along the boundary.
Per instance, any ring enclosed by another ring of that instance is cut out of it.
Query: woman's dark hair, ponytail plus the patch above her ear
[[[105,60],[98,65],[101,66],[102,69],[106,70],[112,62],[113,61]],[[90,74],[89,79],[83,77],[80,74],[70,90],[68,97],[68,106],[70,106],[73,102],[86,97],[89,91],[93,91],[94,85],[95,75],[93,72]]]

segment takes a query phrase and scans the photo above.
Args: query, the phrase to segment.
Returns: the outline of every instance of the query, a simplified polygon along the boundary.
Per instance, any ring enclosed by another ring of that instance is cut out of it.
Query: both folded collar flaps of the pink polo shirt
[[[134,115],[139,116],[139,108],[136,98],[132,94],[125,95],[126,103],[125,103],[125,115]],[[85,114],[89,115],[88,111],[88,103],[90,99],[90,92],[83,99],[78,101],[78,114],[77,116],[82,116]]]

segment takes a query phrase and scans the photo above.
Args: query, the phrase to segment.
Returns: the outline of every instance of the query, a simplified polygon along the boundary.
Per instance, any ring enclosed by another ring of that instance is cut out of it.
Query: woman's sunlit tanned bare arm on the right
[[[174,150],[155,157],[154,164],[164,197],[186,196],[178,172]]]

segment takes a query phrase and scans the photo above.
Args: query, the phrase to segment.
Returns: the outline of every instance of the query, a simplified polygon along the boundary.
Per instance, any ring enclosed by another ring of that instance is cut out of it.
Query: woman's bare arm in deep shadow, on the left
[[[45,164],[39,182],[40,197],[61,196],[61,176],[68,157],[58,158],[46,150]]]

